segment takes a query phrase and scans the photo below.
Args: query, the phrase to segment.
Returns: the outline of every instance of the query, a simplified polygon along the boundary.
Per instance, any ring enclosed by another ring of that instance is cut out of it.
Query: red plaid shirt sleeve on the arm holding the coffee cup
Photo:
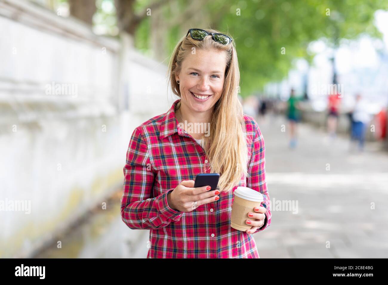
[[[256,232],[262,231],[271,225],[270,198],[267,189],[267,181],[265,180],[265,146],[264,138],[256,121],[254,122],[254,135],[251,145],[251,160],[248,164],[247,187],[256,190],[263,194],[263,202],[260,206],[265,207],[264,224],[258,228]]]

